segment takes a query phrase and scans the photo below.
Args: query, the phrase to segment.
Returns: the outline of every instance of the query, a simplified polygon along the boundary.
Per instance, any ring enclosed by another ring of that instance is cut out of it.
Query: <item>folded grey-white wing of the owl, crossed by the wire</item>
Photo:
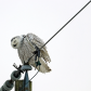
[[[34,35],[34,34],[27,34],[26,37],[30,42],[35,43],[38,48],[41,48],[44,44],[44,42],[38,36]],[[41,52],[41,57],[46,62],[51,62],[51,58],[49,56],[46,46],[40,50],[40,52]]]

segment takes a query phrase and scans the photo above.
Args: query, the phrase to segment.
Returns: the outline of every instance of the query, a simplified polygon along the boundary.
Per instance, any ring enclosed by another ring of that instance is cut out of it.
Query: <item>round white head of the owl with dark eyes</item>
[[[20,36],[14,37],[14,38],[11,39],[11,46],[12,46],[14,49],[21,48],[22,40],[23,40],[23,38],[20,37]]]

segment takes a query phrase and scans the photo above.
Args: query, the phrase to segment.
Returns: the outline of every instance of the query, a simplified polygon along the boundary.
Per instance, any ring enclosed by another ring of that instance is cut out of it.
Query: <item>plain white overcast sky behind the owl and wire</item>
[[[0,0],[0,87],[15,70],[13,63],[22,64],[11,47],[12,37],[32,32],[46,42],[87,2]],[[91,3],[47,47],[52,72],[39,73],[32,79],[32,91],[91,91]],[[29,72],[29,78],[36,72]]]

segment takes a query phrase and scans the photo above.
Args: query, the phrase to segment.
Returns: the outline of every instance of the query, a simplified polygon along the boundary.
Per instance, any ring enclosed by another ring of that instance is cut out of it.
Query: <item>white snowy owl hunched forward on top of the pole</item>
[[[22,36],[16,36],[11,39],[11,46],[14,49],[17,49],[18,56],[24,64],[28,61],[30,56],[34,55],[34,51],[36,51],[35,46],[38,48],[41,48],[44,44],[44,42],[36,35],[34,34],[27,34]],[[35,55],[36,56],[36,55]],[[35,64],[35,56],[32,56],[29,61],[29,65],[36,68]],[[49,73],[51,72],[51,68],[48,66],[47,62],[51,62],[51,58],[48,54],[47,47],[43,47],[40,50],[40,72],[41,73]],[[39,69],[39,67],[37,67]]]

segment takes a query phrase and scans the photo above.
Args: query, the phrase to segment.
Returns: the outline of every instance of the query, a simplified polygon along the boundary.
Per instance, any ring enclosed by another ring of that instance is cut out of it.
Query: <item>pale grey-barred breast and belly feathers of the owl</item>
[[[24,62],[26,63],[30,56],[32,56],[32,52],[34,52],[26,39],[24,39],[22,47],[17,51],[18,51],[18,56],[23,64]],[[31,57],[29,63],[35,64],[35,56]]]

